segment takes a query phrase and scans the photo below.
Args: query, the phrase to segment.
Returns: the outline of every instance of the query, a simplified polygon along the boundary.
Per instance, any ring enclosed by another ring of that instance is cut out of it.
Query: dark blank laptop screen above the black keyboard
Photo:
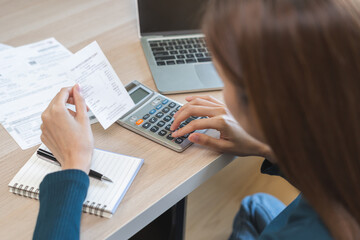
[[[209,0],[137,0],[141,35],[200,32]]]

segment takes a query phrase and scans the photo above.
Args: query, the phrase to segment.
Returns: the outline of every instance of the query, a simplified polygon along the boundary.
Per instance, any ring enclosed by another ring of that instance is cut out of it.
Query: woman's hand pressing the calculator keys
[[[228,113],[225,105],[213,97],[188,97],[188,101],[174,115],[171,130],[177,129],[182,121],[190,116],[207,116],[209,118],[193,120],[172,136],[180,137],[201,129],[220,131],[220,139],[201,133],[192,133],[189,140],[200,145],[211,147],[219,152],[237,156],[262,156],[270,158],[270,148],[250,136],[239,123]]]

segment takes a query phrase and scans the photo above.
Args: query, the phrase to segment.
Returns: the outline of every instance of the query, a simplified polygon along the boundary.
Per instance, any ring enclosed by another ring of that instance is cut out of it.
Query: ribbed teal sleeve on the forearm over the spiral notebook
[[[48,174],[40,184],[40,210],[33,239],[79,239],[89,177],[81,170]]]

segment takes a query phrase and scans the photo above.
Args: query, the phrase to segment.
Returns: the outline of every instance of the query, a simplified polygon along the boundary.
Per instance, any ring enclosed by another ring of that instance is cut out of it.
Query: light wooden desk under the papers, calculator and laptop
[[[137,79],[156,89],[138,39],[134,0],[0,0],[0,6],[1,43],[55,37],[76,52],[96,40],[123,84]],[[210,94],[222,98],[219,91]],[[184,95],[170,97],[184,102]],[[96,147],[145,163],[111,219],[83,214],[82,239],[129,238],[233,159],[200,146],[179,154],[117,124],[92,129]],[[7,184],[35,149],[22,151],[0,127],[0,239],[32,236],[39,202],[9,193]]]

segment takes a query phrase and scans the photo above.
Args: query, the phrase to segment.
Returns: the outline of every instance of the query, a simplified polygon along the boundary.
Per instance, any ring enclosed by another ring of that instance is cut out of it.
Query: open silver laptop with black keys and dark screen
[[[209,0],[135,0],[141,45],[162,94],[222,89],[201,20]]]

